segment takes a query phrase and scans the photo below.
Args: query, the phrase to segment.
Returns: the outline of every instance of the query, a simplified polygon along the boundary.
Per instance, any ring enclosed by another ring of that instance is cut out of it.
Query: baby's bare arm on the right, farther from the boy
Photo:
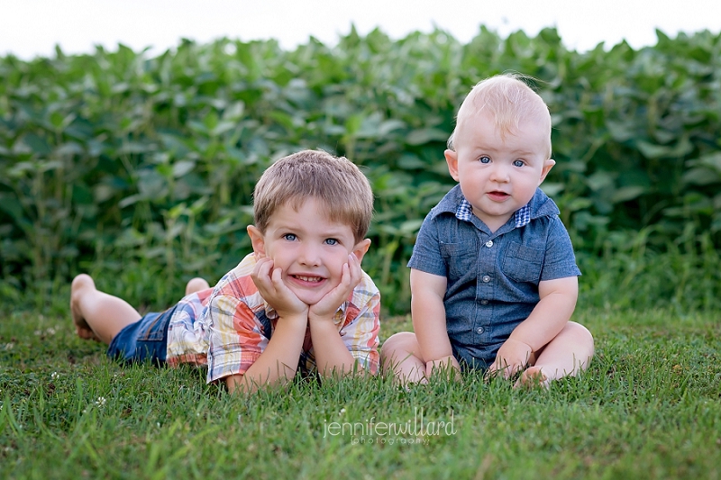
[[[503,376],[512,376],[525,368],[531,354],[542,349],[563,330],[576,308],[579,279],[567,276],[544,280],[538,284],[538,294],[540,301],[498,350],[489,372],[500,370]]]

